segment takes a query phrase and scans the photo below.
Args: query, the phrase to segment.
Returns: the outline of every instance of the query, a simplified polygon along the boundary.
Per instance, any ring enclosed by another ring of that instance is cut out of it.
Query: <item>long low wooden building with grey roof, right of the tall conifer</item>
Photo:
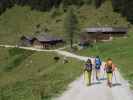
[[[93,41],[111,40],[113,37],[127,36],[128,29],[125,27],[91,27],[83,30],[81,38]],[[86,36],[84,36],[86,35]]]

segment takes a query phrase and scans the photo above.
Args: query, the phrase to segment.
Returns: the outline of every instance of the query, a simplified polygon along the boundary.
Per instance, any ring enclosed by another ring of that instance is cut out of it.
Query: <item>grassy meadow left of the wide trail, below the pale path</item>
[[[54,53],[6,48],[0,48],[0,51],[4,53],[0,56],[3,59],[0,69],[2,63],[12,61],[16,55],[28,55],[23,60],[19,56],[17,59],[22,60],[19,64],[0,73],[0,100],[50,100],[81,74],[81,61],[69,58],[69,63],[63,64],[60,56],[59,62],[55,62],[53,58],[57,55]]]

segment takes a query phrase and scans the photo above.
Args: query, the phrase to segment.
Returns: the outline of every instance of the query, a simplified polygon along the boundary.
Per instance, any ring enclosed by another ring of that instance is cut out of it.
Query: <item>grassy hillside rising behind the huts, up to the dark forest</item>
[[[111,2],[105,2],[99,9],[94,6],[75,6],[81,30],[89,26],[127,26],[126,18],[114,13]],[[37,31],[64,36],[64,12],[53,8],[49,12],[31,10],[30,7],[15,6],[0,16],[0,43],[17,44],[22,35],[32,35]],[[40,25],[37,29],[36,26]],[[7,37],[8,36],[8,37]]]

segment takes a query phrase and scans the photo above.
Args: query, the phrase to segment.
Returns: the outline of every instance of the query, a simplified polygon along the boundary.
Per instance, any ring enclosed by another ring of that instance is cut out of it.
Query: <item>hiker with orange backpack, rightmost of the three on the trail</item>
[[[112,59],[108,58],[105,63],[105,71],[107,73],[107,85],[112,87],[112,76],[116,66],[113,64]]]

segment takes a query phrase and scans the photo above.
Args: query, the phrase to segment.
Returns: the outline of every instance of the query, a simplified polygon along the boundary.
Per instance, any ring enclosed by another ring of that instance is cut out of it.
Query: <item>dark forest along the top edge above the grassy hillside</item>
[[[64,11],[70,5],[82,6],[84,4],[94,5],[99,8],[105,0],[0,0],[0,14],[14,5],[28,5],[32,10],[48,11],[53,7],[62,5]],[[133,0],[112,0],[114,11],[121,13],[122,16],[133,23]]]

